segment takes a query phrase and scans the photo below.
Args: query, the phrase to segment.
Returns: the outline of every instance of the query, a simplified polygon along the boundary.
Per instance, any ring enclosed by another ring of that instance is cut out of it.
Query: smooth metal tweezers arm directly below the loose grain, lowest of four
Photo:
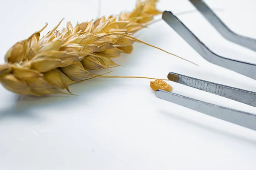
[[[190,108],[194,111],[198,111],[209,116],[234,123],[236,125],[256,130],[256,115],[254,114],[213,105],[207,102],[202,102],[200,100],[162,90],[157,90],[155,95],[160,99],[184,106],[186,108]]]

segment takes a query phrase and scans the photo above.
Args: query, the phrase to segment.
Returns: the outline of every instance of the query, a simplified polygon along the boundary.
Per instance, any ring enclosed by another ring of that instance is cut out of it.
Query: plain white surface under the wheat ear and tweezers
[[[134,8],[136,0],[102,0],[101,14]],[[256,37],[255,0],[205,0],[227,25]],[[167,8],[166,8],[167,7]],[[97,16],[93,0],[0,0],[0,62],[19,40],[62,17],[74,24]],[[194,9],[187,0],[158,8]],[[256,53],[224,40],[198,12],[179,15],[217,54],[256,62]],[[61,25],[65,26],[65,22]],[[170,71],[256,91],[256,81],[210,64],[163,21],[140,40],[198,63],[196,67],[136,43],[116,59],[112,75],[166,78]],[[70,86],[79,96],[18,96],[0,86],[1,170],[255,170],[256,132],[157,99],[148,79],[92,79]],[[169,82],[174,92],[256,113],[248,105]]]

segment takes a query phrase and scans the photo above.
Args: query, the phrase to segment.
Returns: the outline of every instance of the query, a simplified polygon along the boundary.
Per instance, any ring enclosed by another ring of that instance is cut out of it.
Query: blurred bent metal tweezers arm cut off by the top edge
[[[207,6],[203,0],[189,0],[201,14],[214,26],[216,30],[227,40],[240,44],[256,51],[256,40],[234,33],[221,19]]]

